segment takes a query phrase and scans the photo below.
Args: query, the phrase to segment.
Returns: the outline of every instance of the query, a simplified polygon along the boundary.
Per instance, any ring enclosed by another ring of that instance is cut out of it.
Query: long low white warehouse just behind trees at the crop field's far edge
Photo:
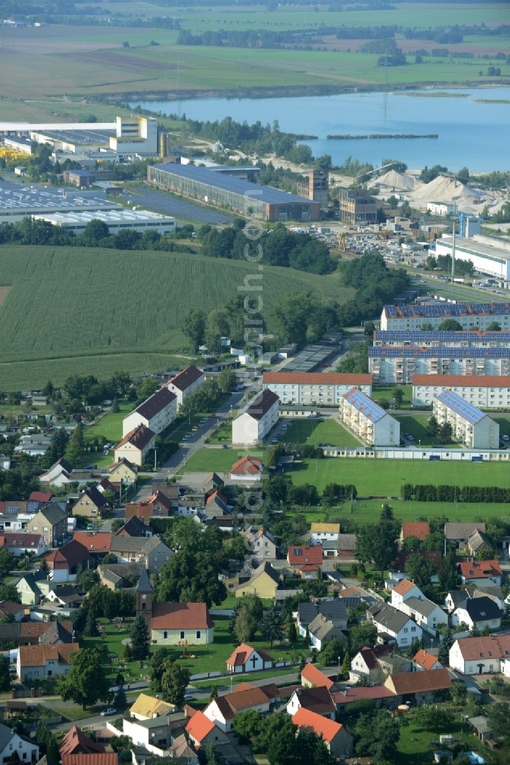
[[[149,210],[96,210],[95,212],[69,212],[33,215],[34,220],[47,220],[54,226],[73,231],[76,235],[83,234],[87,223],[91,220],[102,220],[108,226],[109,233],[116,234],[123,229],[132,231],[158,231],[161,236],[173,234],[177,228],[175,218]]]

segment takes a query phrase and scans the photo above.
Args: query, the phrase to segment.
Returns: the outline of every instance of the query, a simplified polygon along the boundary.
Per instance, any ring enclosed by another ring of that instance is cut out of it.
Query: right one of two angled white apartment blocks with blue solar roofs
[[[440,425],[450,423],[456,441],[471,449],[499,448],[499,425],[453,391],[434,396],[433,408]]]

